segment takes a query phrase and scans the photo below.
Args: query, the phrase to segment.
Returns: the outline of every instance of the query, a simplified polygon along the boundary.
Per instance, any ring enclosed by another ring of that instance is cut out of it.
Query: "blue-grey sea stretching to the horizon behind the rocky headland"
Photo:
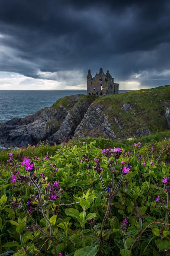
[[[125,92],[128,91],[119,91]],[[23,118],[34,114],[41,108],[50,107],[62,97],[75,94],[87,94],[87,91],[0,91],[0,124],[14,117]]]

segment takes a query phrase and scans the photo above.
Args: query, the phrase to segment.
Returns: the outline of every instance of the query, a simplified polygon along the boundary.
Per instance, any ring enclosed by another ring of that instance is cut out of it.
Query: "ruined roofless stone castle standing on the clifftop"
[[[87,94],[100,96],[112,93],[119,93],[119,84],[114,83],[114,78],[109,74],[109,70],[107,70],[105,75],[103,69],[100,68],[99,73],[92,77],[89,69],[87,75]]]

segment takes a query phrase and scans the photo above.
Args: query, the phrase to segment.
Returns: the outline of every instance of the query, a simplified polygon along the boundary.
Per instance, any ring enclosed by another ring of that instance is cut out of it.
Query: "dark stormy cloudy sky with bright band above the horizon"
[[[0,90],[170,84],[170,1],[0,0]]]

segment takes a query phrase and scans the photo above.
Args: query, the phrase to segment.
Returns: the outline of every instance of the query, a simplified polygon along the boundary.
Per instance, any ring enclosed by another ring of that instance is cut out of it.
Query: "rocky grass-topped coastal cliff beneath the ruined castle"
[[[0,145],[25,147],[74,137],[116,139],[170,128],[170,86],[117,95],[67,96],[51,107],[0,125]]]

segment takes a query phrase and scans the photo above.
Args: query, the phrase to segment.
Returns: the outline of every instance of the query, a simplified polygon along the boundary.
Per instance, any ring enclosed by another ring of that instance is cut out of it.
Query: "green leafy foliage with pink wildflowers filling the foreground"
[[[1,152],[0,255],[170,255],[163,135]]]

